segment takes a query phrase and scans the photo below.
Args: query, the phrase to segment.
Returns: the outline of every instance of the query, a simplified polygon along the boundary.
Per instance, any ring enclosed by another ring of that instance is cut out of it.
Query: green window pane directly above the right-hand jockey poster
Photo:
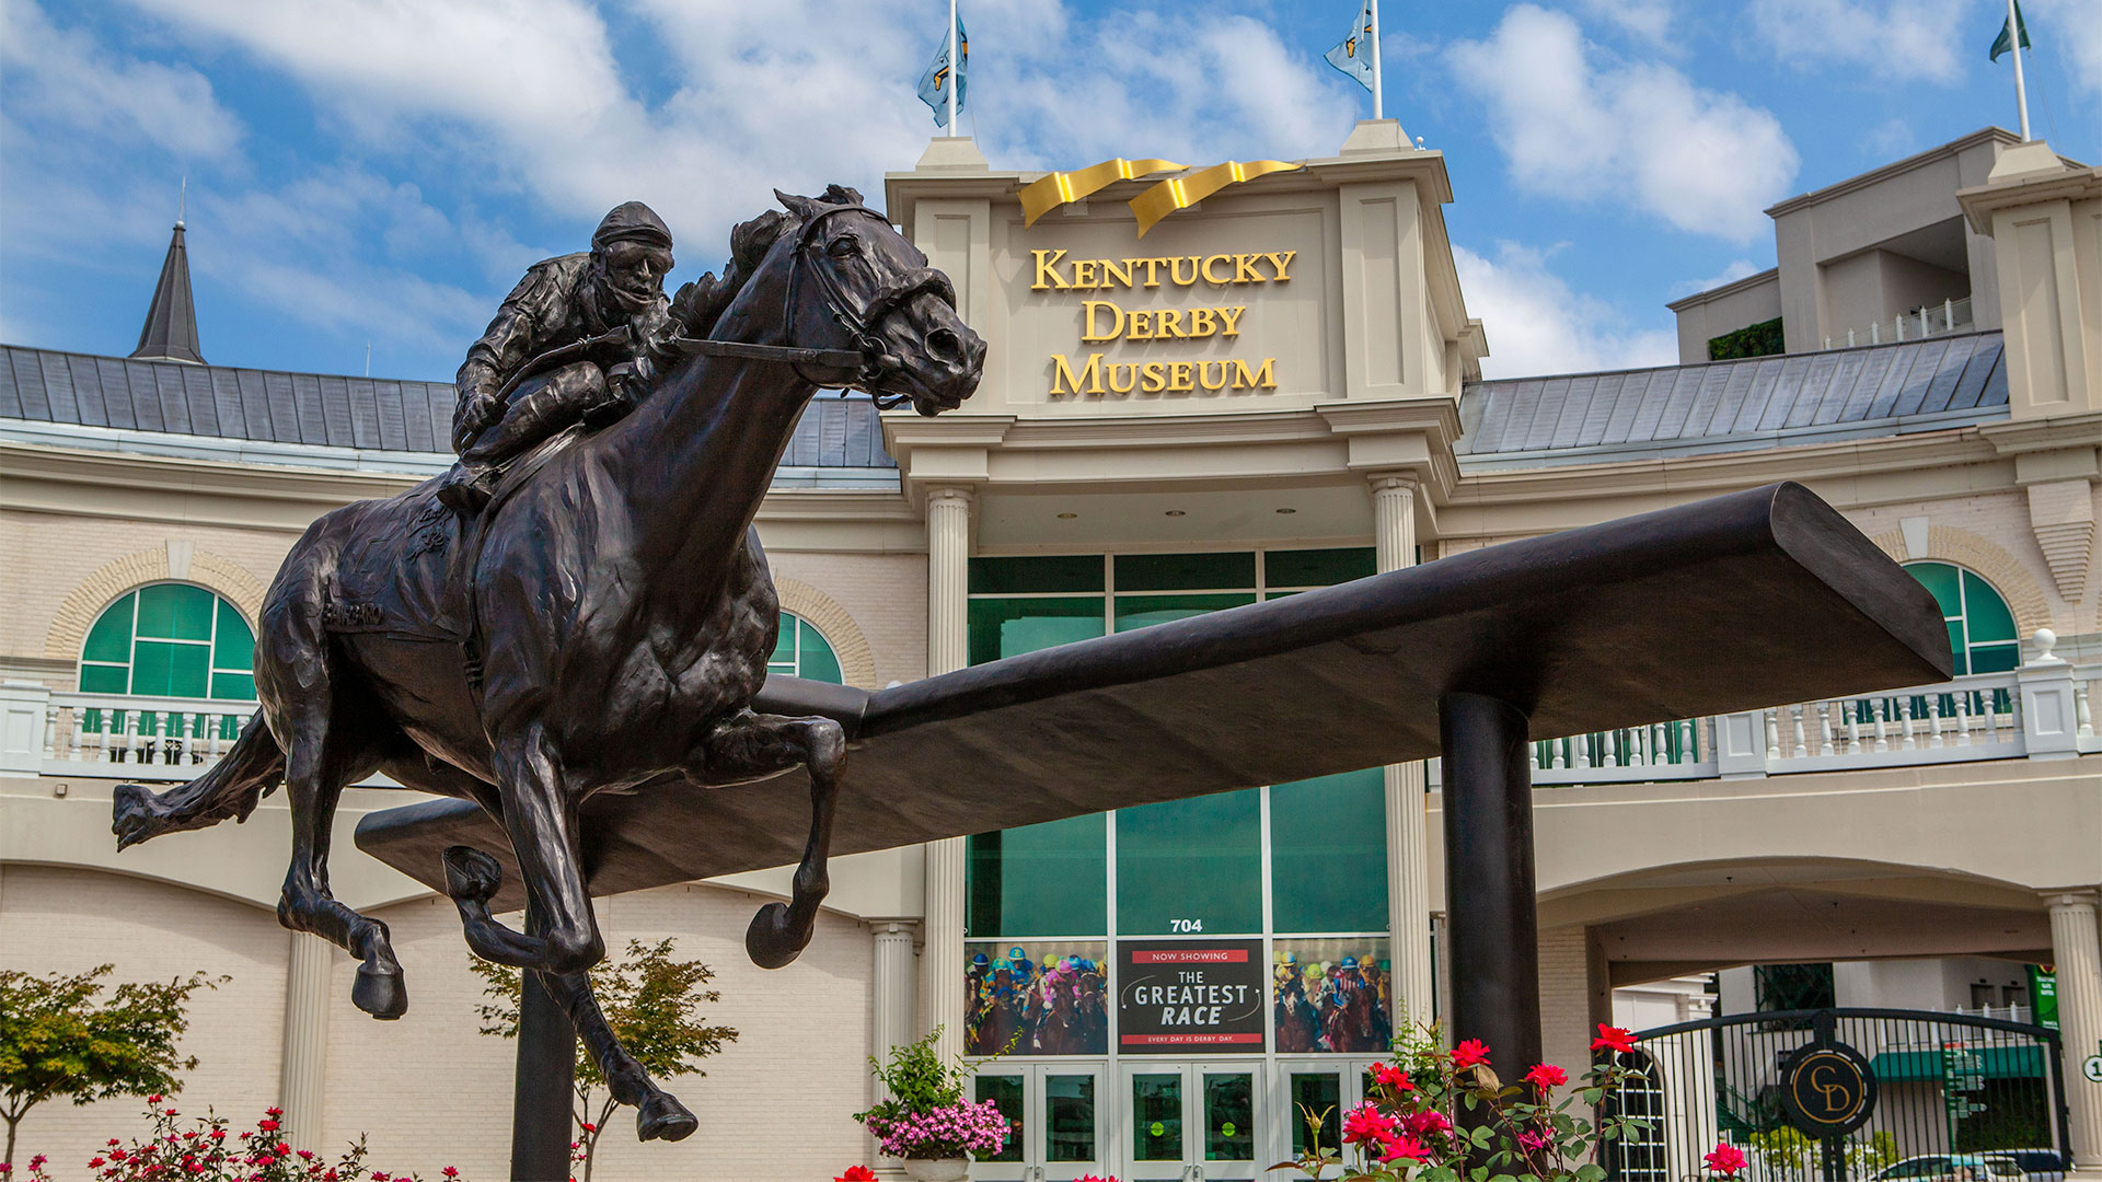
[[[1276,932],[1385,932],[1385,772],[1272,787],[1270,883]]]

